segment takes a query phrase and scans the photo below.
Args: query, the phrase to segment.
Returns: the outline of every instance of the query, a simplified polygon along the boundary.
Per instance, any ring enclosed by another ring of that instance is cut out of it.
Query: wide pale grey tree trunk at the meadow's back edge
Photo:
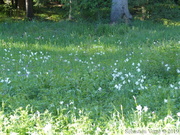
[[[112,0],[111,23],[121,22],[129,23],[132,15],[128,9],[128,0]]]

